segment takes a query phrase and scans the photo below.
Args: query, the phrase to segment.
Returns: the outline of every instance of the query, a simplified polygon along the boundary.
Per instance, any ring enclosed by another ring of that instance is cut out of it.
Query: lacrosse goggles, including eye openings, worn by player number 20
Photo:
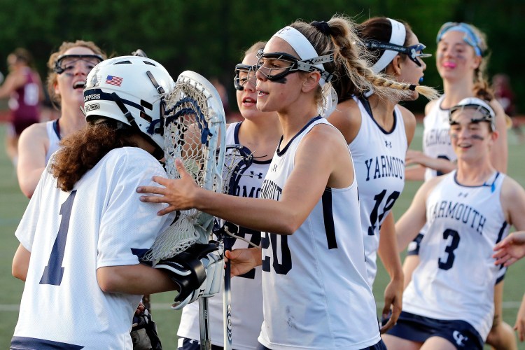
[[[321,73],[321,78],[324,78],[326,83],[329,83],[330,80],[332,80],[333,74],[328,71],[323,71],[323,69],[319,69],[316,67],[316,64],[332,62],[334,60],[333,53],[301,60],[286,52],[262,52],[262,50],[259,50],[257,52],[257,58],[257,70],[270,81],[280,80],[285,76],[288,76],[288,74],[295,73],[296,71],[318,71]],[[279,66],[278,64],[275,64],[276,61],[285,62],[288,66]]]

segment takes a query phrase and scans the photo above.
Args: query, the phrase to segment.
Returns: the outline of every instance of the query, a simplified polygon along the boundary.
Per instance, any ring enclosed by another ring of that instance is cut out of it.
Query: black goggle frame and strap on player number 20
[[[257,58],[258,58],[257,70],[260,70],[262,68],[262,64],[259,63],[260,59],[269,58],[269,59],[279,59],[281,61],[290,62],[291,64],[290,66],[279,68],[279,69],[285,70],[282,73],[275,74],[275,75],[269,75],[269,74],[261,72],[270,81],[279,80],[281,78],[284,78],[290,73],[295,73],[296,71],[306,71],[306,72],[318,71],[319,73],[321,73],[321,77],[324,78],[326,83],[329,83],[333,77],[332,73],[329,73],[328,71],[323,71],[322,69],[319,69],[318,67],[316,67],[316,64],[332,62],[334,60],[333,53],[330,53],[328,55],[314,57],[311,59],[301,60],[286,52],[263,52],[261,49],[261,50],[258,50],[257,52]],[[269,72],[271,71],[272,70],[269,69]]]

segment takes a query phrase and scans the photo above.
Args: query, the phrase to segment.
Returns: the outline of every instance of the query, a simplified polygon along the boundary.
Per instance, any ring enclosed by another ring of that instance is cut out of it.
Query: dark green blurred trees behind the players
[[[62,41],[91,40],[109,55],[128,55],[141,48],[166,66],[176,78],[190,69],[218,78],[235,101],[233,67],[252,43],[267,40],[297,18],[328,20],[334,13],[355,22],[384,15],[405,20],[419,41],[435,52],[435,36],[444,22],[470,22],[486,33],[491,61],[489,78],[507,73],[517,95],[517,109],[525,112],[525,1],[500,0],[0,0],[0,71],[15,48],[29,49],[41,76],[46,62]],[[521,52],[521,53],[520,53]],[[426,59],[424,83],[442,89],[435,58]],[[422,112],[423,98],[410,102]],[[230,103],[235,109],[235,103]]]

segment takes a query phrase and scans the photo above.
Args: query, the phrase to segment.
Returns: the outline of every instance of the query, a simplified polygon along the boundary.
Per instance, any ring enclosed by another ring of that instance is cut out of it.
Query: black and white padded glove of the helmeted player
[[[182,309],[199,297],[211,297],[221,288],[224,268],[223,246],[217,241],[196,243],[173,258],[160,260],[155,266],[168,272],[179,285],[172,309]]]

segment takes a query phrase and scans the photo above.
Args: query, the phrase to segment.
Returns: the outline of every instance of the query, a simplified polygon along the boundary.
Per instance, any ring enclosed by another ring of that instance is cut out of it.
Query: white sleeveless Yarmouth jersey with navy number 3
[[[495,173],[484,186],[461,186],[454,171],[437,183],[426,200],[428,230],[403,293],[404,311],[463,320],[486,339],[499,272],[492,248],[509,230],[500,202],[503,179]]]

